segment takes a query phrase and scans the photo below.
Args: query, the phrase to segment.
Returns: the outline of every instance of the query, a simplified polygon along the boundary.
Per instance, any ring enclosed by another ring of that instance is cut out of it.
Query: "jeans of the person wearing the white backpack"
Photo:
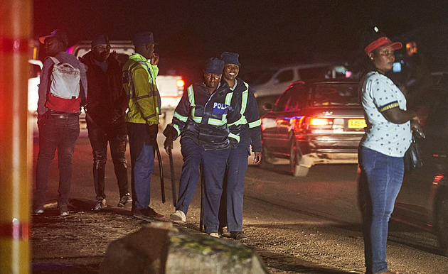
[[[43,208],[48,187],[48,170],[58,149],[58,207],[67,207],[72,184],[72,158],[80,135],[78,114],[53,111],[38,121],[39,153],[36,167],[35,208]]]

